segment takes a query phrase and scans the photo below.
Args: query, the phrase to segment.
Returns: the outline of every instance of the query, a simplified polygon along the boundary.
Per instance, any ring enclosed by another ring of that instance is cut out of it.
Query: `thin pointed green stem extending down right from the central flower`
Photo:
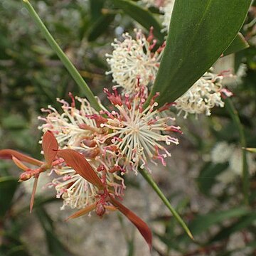
[[[186,225],[186,223],[184,223],[184,221],[182,220],[181,216],[178,215],[176,210],[171,206],[171,203],[168,201],[166,196],[164,196],[164,193],[161,191],[159,186],[157,186],[157,184],[154,182],[153,178],[151,178],[151,176],[144,169],[139,169],[139,173],[142,174],[142,176],[146,180],[146,182],[149,183],[151,188],[153,188],[154,191],[159,196],[159,198],[161,198],[161,201],[163,201],[164,204],[166,205],[166,207],[169,208],[169,210],[171,211],[172,215],[174,215],[174,218],[176,218],[176,220],[181,225],[181,227],[186,231],[188,236],[192,240],[194,240],[193,235],[191,234],[191,231],[188,229],[188,226]]]

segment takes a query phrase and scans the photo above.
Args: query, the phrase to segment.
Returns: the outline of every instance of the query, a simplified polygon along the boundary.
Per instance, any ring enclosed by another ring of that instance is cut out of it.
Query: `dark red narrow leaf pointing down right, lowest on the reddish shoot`
[[[148,225],[144,223],[144,221],[139,218],[135,213],[132,212],[132,210],[129,210],[125,206],[122,205],[122,203],[119,203],[114,198],[110,198],[111,203],[117,207],[117,210],[119,210],[122,214],[124,214],[139,230],[139,233],[142,234],[144,239],[146,240],[147,244],[149,245],[149,248],[152,248],[152,233],[149,229]]]

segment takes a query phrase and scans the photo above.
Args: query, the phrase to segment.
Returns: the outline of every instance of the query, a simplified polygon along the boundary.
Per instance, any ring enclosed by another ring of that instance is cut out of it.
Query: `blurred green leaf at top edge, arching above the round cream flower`
[[[164,41],[164,33],[161,33],[162,26],[150,11],[143,9],[141,6],[129,0],[112,0],[112,2],[117,8],[122,9],[125,14],[144,26],[147,31],[153,26],[154,36],[156,36],[159,41]]]

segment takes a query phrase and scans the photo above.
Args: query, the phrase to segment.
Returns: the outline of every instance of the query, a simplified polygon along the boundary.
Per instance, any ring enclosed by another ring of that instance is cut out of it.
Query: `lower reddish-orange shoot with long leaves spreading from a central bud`
[[[64,159],[65,163],[74,169],[82,178],[85,178],[87,182],[95,186],[97,195],[95,195],[95,202],[86,206],[84,209],[79,210],[77,213],[71,215],[68,219],[78,218],[81,215],[90,213],[95,210],[98,216],[102,217],[106,213],[106,210],[119,210],[123,213],[139,230],[149,247],[152,245],[152,234],[149,227],[144,221],[135,215],[131,210],[127,209],[119,201],[114,198],[112,189],[107,186],[105,176],[101,178],[97,176],[97,173],[92,169],[92,166],[86,161],[82,154],[79,154],[73,149],[62,149],[58,151],[58,156]]]

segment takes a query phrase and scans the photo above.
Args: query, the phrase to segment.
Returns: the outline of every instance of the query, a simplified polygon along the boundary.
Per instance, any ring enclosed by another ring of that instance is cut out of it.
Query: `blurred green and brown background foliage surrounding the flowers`
[[[148,30],[154,23],[159,43],[164,39],[159,10],[148,9],[141,1],[134,1],[132,5],[127,5],[127,2],[131,1],[32,2],[56,41],[100,98],[103,97],[102,88],[112,85],[112,78],[105,76],[105,71],[109,70],[105,53],[110,53],[110,43],[114,38],[119,38],[124,31],[132,31],[134,26]],[[234,93],[232,100],[245,129],[248,147],[256,147],[255,23],[256,2],[241,30],[250,48],[229,55],[215,65],[220,70],[232,68],[237,75],[225,82]],[[55,98],[67,99],[68,92],[82,95],[38,32],[21,1],[0,0],[0,31],[1,149],[18,149],[40,157],[38,140],[41,133],[37,130],[37,117],[41,114],[41,107],[53,105],[58,109],[60,105]],[[240,147],[238,127],[227,107],[215,109],[210,117],[189,117],[186,120],[180,117],[178,124],[184,127],[180,145],[174,149],[166,170],[163,173],[156,171],[153,176],[189,223],[196,241],[187,238],[169,213],[162,210],[161,202],[154,205],[151,200],[154,192],[144,192],[145,184],[130,178],[127,183],[133,187],[135,195],[146,194],[141,201],[142,207],[138,209],[142,216],[147,214],[154,232],[152,254],[256,255],[255,173],[250,176],[249,204],[245,205],[240,176],[232,182],[227,182],[223,176],[221,178],[220,174],[225,173],[229,162],[215,163],[210,153],[218,142]],[[255,164],[255,156],[251,156]],[[51,210],[53,206],[59,208],[59,203],[48,192],[38,195],[35,210],[29,215],[29,189],[17,183],[16,177],[18,171],[14,165],[0,161],[0,255],[84,255],[87,251],[99,255],[99,250],[105,246],[114,248],[112,244],[97,248],[92,245],[92,249],[85,247],[82,240],[73,238],[72,233],[77,230],[70,228],[67,237],[67,226],[63,223],[66,215],[58,213],[58,209]],[[129,200],[133,199],[132,194],[125,200],[129,205]],[[142,210],[150,204],[155,209]],[[85,223],[92,220],[85,218]],[[107,221],[109,226],[114,225],[114,219]],[[97,236],[101,227],[97,222],[94,225],[98,228]],[[82,229],[81,226],[77,228]],[[137,244],[134,232],[127,228],[122,218],[117,223],[117,230],[123,230],[123,243],[119,245],[120,236],[113,232],[114,239],[110,242],[117,243],[120,252],[120,247],[124,249],[121,253],[116,250],[114,254],[107,250],[105,255],[139,255],[139,247],[144,244]],[[38,233],[41,235],[36,235]],[[95,238],[94,234],[89,235]],[[87,237],[82,239],[88,240]]]

